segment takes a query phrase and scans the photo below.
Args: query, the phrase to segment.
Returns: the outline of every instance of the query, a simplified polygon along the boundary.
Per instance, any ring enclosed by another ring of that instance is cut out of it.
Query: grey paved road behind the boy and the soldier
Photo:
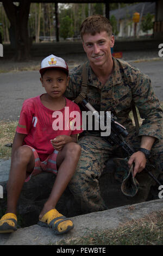
[[[149,75],[156,95],[163,101],[163,61],[133,64]],[[39,78],[39,71],[0,74],[0,120],[18,120],[23,101],[44,92]]]

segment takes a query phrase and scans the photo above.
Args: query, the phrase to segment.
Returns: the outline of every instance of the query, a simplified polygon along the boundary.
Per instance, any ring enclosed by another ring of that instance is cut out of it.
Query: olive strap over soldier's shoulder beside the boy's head
[[[81,103],[82,100],[85,99],[87,94],[87,72],[86,72],[86,63],[83,65],[83,72],[82,72],[82,87],[81,92],[79,95],[74,99],[74,102]]]

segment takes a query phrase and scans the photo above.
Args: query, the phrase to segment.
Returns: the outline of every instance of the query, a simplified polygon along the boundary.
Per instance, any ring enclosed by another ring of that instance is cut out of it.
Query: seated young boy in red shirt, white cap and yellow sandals
[[[81,151],[77,134],[82,129],[71,129],[72,118],[67,116],[65,107],[69,113],[78,113],[80,122],[81,113],[78,105],[64,96],[70,79],[64,59],[54,55],[43,59],[40,74],[46,93],[25,100],[22,106],[12,145],[7,213],[0,220],[0,233],[17,230],[16,208],[23,183],[42,171],[55,173],[57,178],[38,224],[51,227],[55,234],[73,228],[72,221],[61,215],[55,206],[76,170]]]

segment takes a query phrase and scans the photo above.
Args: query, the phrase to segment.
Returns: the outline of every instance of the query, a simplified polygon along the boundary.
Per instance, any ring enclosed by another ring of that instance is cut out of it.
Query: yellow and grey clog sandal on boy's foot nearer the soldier
[[[65,234],[74,227],[73,222],[56,209],[48,211],[37,224],[42,227],[52,228],[57,235]]]

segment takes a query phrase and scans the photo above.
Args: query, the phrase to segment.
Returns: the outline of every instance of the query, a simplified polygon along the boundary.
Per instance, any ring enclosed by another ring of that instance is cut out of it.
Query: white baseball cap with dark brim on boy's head
[[[64,59],[54,56],[53,54],[49,55],[41,62],[40,74],[43,75],[46,69],[62,69],[66,71],[68,75],[68,65]]]

